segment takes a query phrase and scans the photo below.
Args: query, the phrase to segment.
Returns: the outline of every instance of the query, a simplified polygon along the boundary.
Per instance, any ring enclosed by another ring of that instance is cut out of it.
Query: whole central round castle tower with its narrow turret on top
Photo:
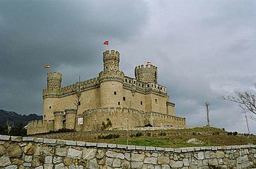
[[[103,52],[104,70],[99,73],[102,108],[122,106],[124,73],[119,70],[119,62],[118,51]]]

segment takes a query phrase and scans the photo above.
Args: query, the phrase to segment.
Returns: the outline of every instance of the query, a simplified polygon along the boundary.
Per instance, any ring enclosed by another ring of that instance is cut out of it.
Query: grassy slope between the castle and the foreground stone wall
[[[231,146],[242,144],[256,144],[256,136],[238,134],[237,132],[226,132],[215,127],[196,127],[191,129],[172,130],[171,134],[157,137],[146,137],[138,134],[129,136],[129,145],[137,146],[159,146],[159,147],[190,147],[190,146]],[[166,133],[168,133],[166,131]],[[100,134],[100,137],[118,137],[118,135]],[[88,137],[88,134],[82,133],[56,133],[42,134],[35,137],[45,137],[54,139],[71,139],[82,142],[103,142],[112,144],[127,144],[127,137],[118,137],[115,139],[95,139]],[[98,137],[97,137],[98,138]],[[196,139],[198,143],[187,143],[189,139]]]

